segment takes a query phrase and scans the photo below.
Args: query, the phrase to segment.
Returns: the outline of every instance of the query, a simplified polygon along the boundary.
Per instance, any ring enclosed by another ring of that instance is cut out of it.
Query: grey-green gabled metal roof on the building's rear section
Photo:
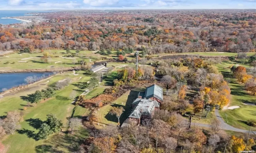
[[[149,99],[151,97],[156,97],[157,99],[163,101],[163,89],[156,84],[153,84],[146,88],[145,97]]]

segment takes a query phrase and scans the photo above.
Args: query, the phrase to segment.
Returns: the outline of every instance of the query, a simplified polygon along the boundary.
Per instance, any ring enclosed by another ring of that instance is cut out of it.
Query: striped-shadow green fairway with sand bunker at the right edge
[[[236,128],[249,130],[252,127],[245,124],[245,121],[248,119],[256,119],[256,106],[244,105],[243,103],[256,104],[256,96],[250,95],[245,91],[244,84],[238,83],[237,80],[233,78],[233,74],[228,69],[231,64],[237,63],[223,61],[218,64],[217,67],[219,71],[222,72],[224,78],[230,81],[229,86],[231,88],[231,100],[229,106],[240,106],[240,108],[223,110],[220,111],[220,114],[228,124]],[[248,65],[243,66],[248,67]]]

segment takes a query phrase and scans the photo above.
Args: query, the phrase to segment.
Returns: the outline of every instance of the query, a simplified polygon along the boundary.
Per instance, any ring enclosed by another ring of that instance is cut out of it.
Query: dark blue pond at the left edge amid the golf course
[[[27,84],[24,80],[29,76],[37,76],[37,78],[41,78],[44,76],[51,75],[52,72],[22,72],[22,73],[1,73],[0,74],[0,92],[3,88],[10,89],[12,87],[16,87],[22,84]]]

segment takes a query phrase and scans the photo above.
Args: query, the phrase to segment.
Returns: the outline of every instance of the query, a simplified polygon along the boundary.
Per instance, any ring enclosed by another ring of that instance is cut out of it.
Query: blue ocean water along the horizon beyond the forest
[[[15,17],[15,16],[29,16],[29,15],[26,15],[26,13],[42,13],[42,12],[51,12],[51,11],[0,10],[0,24],[14,24],[14,23],[23,22],[15,19],[1,19],[1,18]]]

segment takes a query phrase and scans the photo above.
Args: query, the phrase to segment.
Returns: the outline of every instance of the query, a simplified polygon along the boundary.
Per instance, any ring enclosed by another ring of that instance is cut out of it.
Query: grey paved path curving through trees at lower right
[[[248,130],[243,130],[243,129],[238,129],[238,128],[234,128],[233,126],[227,124],[221,117],[221,115],[219,114],[219,110],[218,109],[215,109],[215,116],[216,118],[221,122],[221,129],[224,129],[224,130],[230,130],[230,131],[235,131],[235,132],[242,132],[242,133],[249,133]],[[192,126],[193,125],[198,125],[198,126],[201,126],[201,127],[206,127],[206,128],[211,128],[211,125],[210,124],[202,124],[202,123],[193,123],[191,124]],[[256,133],[256,131],[253,131],[254,133]]]

